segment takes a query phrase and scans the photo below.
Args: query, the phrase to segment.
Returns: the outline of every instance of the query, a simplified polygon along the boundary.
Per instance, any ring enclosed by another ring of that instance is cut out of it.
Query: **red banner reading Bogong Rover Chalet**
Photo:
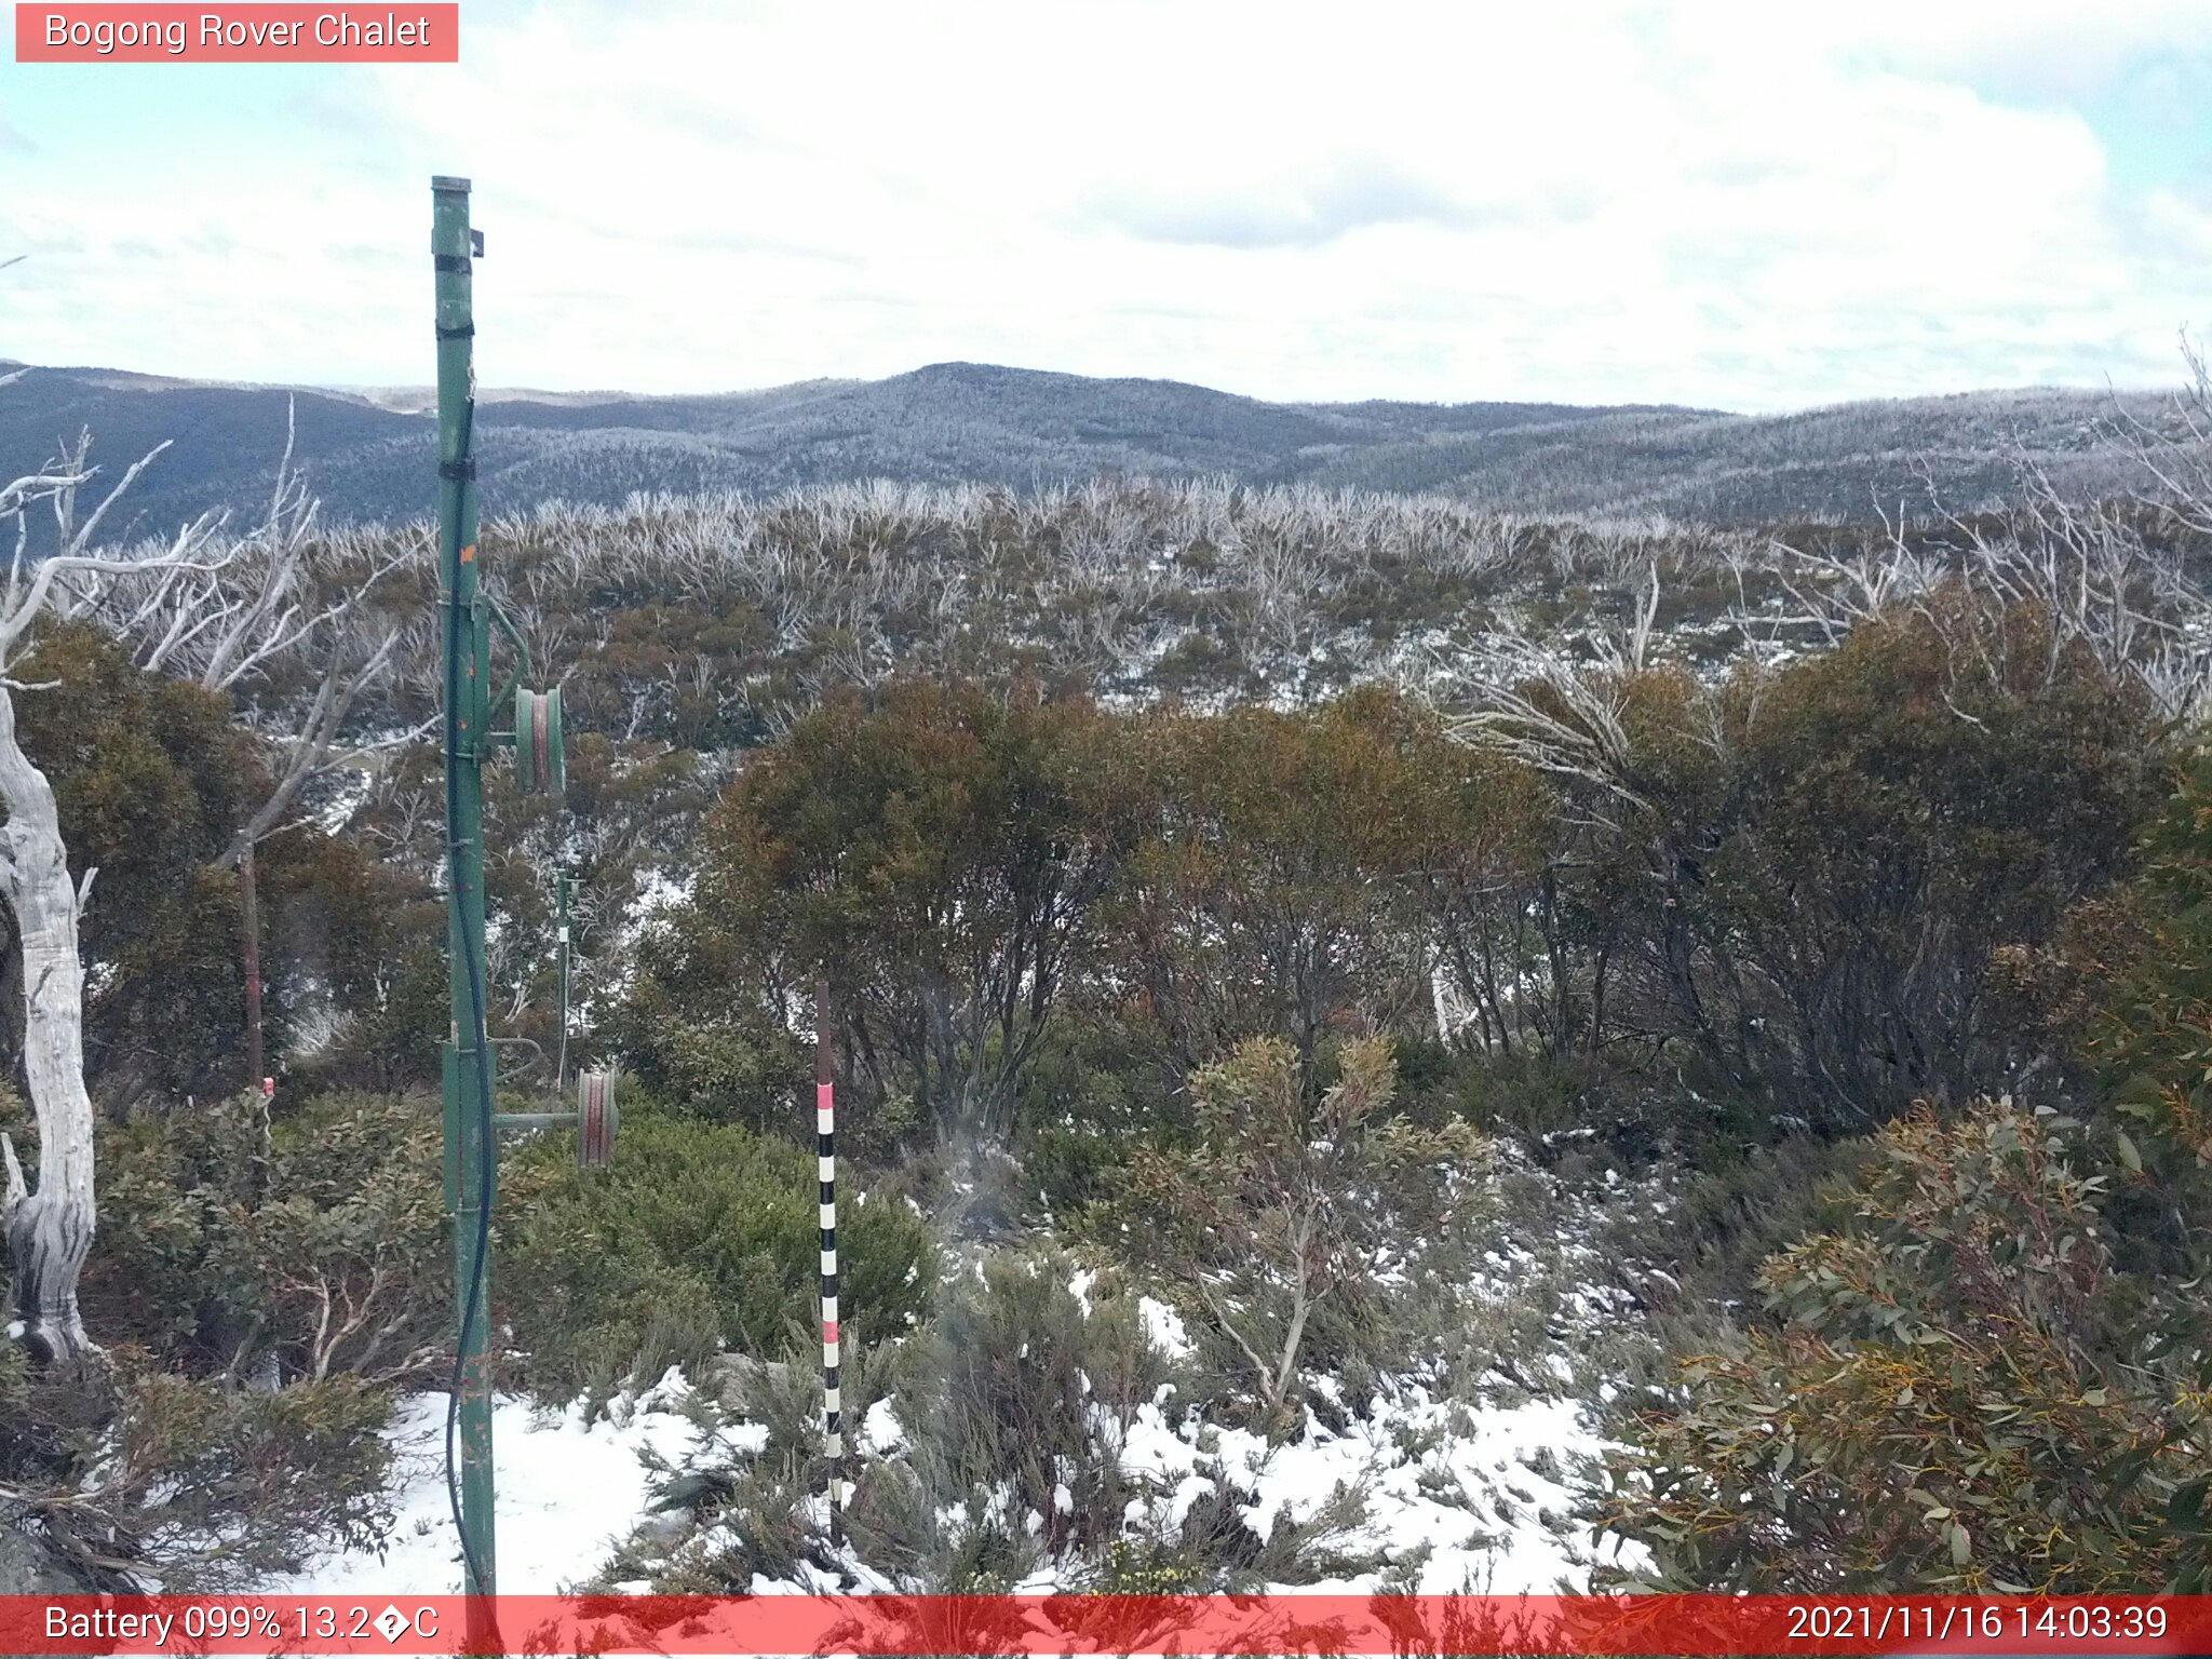
[[[15,4],[18,64],[458,64],[460,4]]]

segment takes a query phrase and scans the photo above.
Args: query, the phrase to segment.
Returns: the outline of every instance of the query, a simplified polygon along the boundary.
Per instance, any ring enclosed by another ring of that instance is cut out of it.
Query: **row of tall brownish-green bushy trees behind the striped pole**
[[[1245,1037],[1285,1037],[1312,1088],[1363,1031],[1440,1051],[1409,1104],[1511,1117],[1564,1073],[1615,1108],[1606,1135],[1834,1135],[1966,1099],[2068,1064],[2008,1009],[2000,951],[2128,874],[2163,776],[2130,681],[2026,611],[1978,644],[2000,679],[1955,681],[1918,617],[1719,684],[1619,670],[1601,763],[1571,763],[1577,710],[1509,710],[1551,768],[1380,688],[1228,714],[841,701],[710,814],[619,1029],[657,1082],[708,1033],[759,1068],[827,971],[858,1121],[905,1110],[962,1148],[1091,1102],[1102,1130],[1175,1124],[1181,1079]]]

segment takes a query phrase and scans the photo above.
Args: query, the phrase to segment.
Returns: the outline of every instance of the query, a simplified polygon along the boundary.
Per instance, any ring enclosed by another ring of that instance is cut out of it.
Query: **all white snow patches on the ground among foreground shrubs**
[[[1595,1252],[1595,1234],[1586,1237],[1590,1214],[1559,1221],[1559,1237],[1542,1248],[1500,1234],[1464,1285],[1475,1301],[1511,1298],[1526,1294],[1546,1265],[1566,1267],[1564,1283],[1555,1285],[1559,1327],[1553,1343],[1517,1356],[1522,1376],[1551,1371],[1562,1387],[1559,1398],[1515,1391],[1509,1396],[1520,1400],[1515,1405],[1453,1400],[1436,1398],[1411,1378],[1396,1378],[1385,1380],[1374,1398],[1352,1400],[1334,1378],[1310,1378],[1327,1420],[1310,1411],[1298,1440],[1270,1444],[1252,1431],[1203,1422],[1181,1409],[1175,1387],[1166,1385],[1126,1431],[1099,1422],[1106,1444],[1119,1438],[1121,1462],[1146,1493],[1130,1502],[1130,1531],[1155,1537],[1175,1533],[1190,1506],[1225,1482],[1250,1500],[1245,1524],[1267,1537],[1279,1517],[1307,1520],[1340,1486],[1349,1486],[1365,1506],[1365,1522],[1336,1542],[1352,1553],[1378,1551],[1387,1566],[1402,1566],[1427,1546],[1416,1590],[1511,1595],[1586,1586],[1590,1537],[1571,1520],[1571,1482],[1586,1460],[1604,1451],[1604,1440],[1593,1425],[1595,1400],[1575,1396],[1604,1400],[1610,1387],[1597,1383],[1593,1389],[1588,1380],[1577,1387],[1577,1367],[1568,1367],[1564,1349],[1573,1347],[1573,1329],[1617,1325],[1626,1310],[1617,1305],[1617,1290],[1577,1272]],[[1097,1274],[1075,1272],[1068,1290],[1088,1312]],[[1172,1305],[1139,1296],[1137,1312],[1155,1349],[1170,1358],[1192,1352],[1192,1336]],[[699,1436],[708,1431],[686,1413],[688,1394],[681,1374],[670,1371],[653,1389],[617,1398],[611,1411],[595,1418],[582,1405],[551,1411],[515,1398],[498,1402],[493,1444],[500,1464],[502,1588],[557,1593],[599,1573],[615,1544],[648,1520],[653,1475],[639,1453],[684,1464],[699,1462],[688,1453],[706,1451],[706,1462],[728,1462],[732,1451],[765,1447],[768,1431],[759,1425],[714,1429],[726,1451],[699,1447]],[[294,1579],[272,1584],[272,1590],[398,1595],[458,1584],[442,1469],[445,1396],[405,1400],[389,1436],[398,1453],[398,1522],[385,1551],[316,1562]],[[872,1402],[856,1425],[854,1449],[863,1460],[907,1453],[909,1433],[891,1400]],[[1040,1526],[1042,1520],[1035,1517]],[[1606,1559],[1628,1568],[1644,1564],[1632,1546]],[[898,1588],[849,1553],[843,1562],[860,1586]],[[1064,1575],[1073,1577],[1066,1568],[1046,1568],[1022,1588],[1064,1588]],[[748,1588],[770,1593],[836,1584],[754,1582]],[[1367,1593],[1380,1588],[1380,1575],[1276,1588]]]

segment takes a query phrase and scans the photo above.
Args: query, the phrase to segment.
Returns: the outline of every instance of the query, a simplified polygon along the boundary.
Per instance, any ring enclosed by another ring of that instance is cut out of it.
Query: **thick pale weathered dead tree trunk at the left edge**
[[[24,987],[24,1077],[38,1117],[38,1192],[13,1146],[7,1157],[9,1296],[22,1340],[62,1369],[97,1352],[77,1314],[77,1274],[93,1248],[93,1102],[84,1093],[84,962],[53,785],[15,741],[15,701],[0,686],[0,891],[15,914]],[[91,874],[84,878],[91,887]],[[7,1137],[0,1137],[4,1144]]]

